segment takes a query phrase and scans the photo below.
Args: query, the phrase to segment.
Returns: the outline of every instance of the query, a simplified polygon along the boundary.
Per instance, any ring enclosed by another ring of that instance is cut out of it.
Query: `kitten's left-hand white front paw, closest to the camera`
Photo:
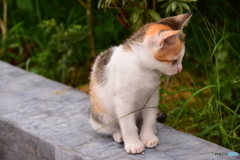
[[[144,149],[145,149],[144,144],[141,141],[125,144],[125,150],[127,153],[131,154],[142,153]]]

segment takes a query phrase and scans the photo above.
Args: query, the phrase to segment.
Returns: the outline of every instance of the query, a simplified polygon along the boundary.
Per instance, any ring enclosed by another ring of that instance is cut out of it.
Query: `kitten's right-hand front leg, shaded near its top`
[[[149,100],[146,107],[142,110],[143,124],[140,132],[140,139],[147,148],[154,148],[159,144],[156,136],[156,116],[158,109],[153,108],[158,105],[158,93],[155,93]]]

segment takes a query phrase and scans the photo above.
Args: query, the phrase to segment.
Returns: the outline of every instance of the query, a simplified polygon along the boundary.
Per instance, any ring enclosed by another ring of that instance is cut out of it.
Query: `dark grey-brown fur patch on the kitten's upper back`
[[[98,83],[104,84],[107,81],[106,65],[109,63],[113,51],[113,48],[109,48],[98,57],[95,72]]]

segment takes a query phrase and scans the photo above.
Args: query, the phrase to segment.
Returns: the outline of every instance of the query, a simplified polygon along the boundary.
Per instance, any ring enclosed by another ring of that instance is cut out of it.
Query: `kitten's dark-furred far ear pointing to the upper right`
[[[178,16],[164,18],[160,20],[159,23],[169,25],[174,30],[179,30],[183,29],[183,27],[188,24],[192,15],[192,12],[188,12],[185,14],[180,14]]]

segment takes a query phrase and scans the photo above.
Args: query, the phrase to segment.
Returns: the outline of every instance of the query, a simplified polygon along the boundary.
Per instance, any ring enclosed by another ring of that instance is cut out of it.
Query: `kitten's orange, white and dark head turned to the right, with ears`
[[[145,29],[143,44],[150,51],[156,69],[166,75],[182,71],[182,58],[185,52],[183,28],[192,12],[164,18],[150,23]]]

